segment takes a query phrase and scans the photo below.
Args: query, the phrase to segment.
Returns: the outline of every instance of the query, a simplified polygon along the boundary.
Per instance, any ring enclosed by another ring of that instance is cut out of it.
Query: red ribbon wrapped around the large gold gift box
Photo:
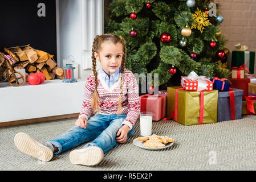
[[[175,110],[170,114],[169,118],[163,118],[162,120],[169,120],[174,117],[174,121],[177,122],[177,117],[178,117],[178,90],[183,90],[184,88],[176,89],[175,92]],[[204,92],[200,92],[200,115],[199,115],[199,122],[198,125],[201,125],[203,123],[204,119]]]

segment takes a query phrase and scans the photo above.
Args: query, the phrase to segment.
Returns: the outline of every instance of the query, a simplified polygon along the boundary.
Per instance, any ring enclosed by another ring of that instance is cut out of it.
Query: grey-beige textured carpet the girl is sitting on
[[[132,140],[139,137],[139,122],[128,142],[119,144],[104,155],[94,167],[70,163],[70,151],[50,162],[40,162],[18,151],[14,136],[30,134],[40,141],[51,140],[74,126],[75,119],[34,123],[0,129],[0,170],[255,170],[256,115],[235,121],[184,126],[174,121],[153,122],[153,134],[176,139],[164,150],[145,150]],[[76,148],[82,148],[80,145]]]

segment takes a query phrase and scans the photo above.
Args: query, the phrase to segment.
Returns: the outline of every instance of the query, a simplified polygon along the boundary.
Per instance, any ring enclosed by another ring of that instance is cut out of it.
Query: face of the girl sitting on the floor
[[[108,76],[119,69],[124,53],[121,43],[113,44],[111,41],[105,41],[98,52],[94,52],[94,56],[100,61],[101,68]]]

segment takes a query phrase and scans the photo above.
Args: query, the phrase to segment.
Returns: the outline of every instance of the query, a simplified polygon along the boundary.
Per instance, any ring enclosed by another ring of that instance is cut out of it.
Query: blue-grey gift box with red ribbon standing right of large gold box
[[[218,118],[217,121],[230,121],[242,118],[243,90],[231,89],[218,93]]]

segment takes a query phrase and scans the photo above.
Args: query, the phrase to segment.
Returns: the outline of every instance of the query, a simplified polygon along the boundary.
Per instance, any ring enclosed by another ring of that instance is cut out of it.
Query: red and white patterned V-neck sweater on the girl
[[[120,75],[119,79],[109,88],[102,79],[100,72],[97,71],[97,94],[99,96],[99,113],[100,114],[117,114],[118,101],[120,95]],[[93,115],[91,108],[92,95],[95,90],[94,75],[87,78],[84,88],[84,99],[79,118],[84,116],[86,120]],[[122,124],[126,124],[132,129],[140,114],[139,89],[135,76],[131,71],[125,69],[123,75],[123,93],[121,94],[121,111],[120,114],[127,114]]]

